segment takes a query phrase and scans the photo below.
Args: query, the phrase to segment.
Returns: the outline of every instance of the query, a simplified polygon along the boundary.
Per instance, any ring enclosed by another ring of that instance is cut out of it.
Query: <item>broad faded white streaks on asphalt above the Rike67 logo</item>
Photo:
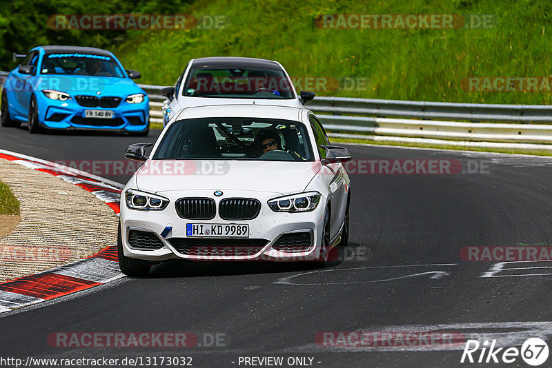
[[[492,330],[492,331],[482,331]],[[498,331],[497,331],[498,330]],[[503,330],[503,331],[500,331]],[[552,321],[538,322],[491,322],[491,323],[450,323],[442,325],[397,325],[397,326],[370,326],[354,331],[395,331],[395,332],[453,332],[462,334],[464,343],[458,345],[418,345],[418,346],[345,346],[326,347],[310,343],[299,347],[285,349],[286,352],[322,353],[322,352],[351,352],[351,351],[442,351],[463,350],[469,339],[479,341],[497,340],[495,347],[520,346],[528,338],[540,337],[549,340],[552,335]],[[313,336],[313,340],[314,340]]]

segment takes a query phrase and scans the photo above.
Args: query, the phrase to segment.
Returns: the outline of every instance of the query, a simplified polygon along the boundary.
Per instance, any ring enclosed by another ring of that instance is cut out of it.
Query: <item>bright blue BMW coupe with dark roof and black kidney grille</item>
[[[23,55],[21,55],[23,57]],[[0,123],[29,132],[110,130],[147,135],[149,99],[106,50],[39,46],[24,56],[4,83]]]

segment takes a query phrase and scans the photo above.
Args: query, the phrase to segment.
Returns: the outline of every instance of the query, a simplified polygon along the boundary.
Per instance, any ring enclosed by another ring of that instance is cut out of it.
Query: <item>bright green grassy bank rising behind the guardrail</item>
[[[550,76],[552,3],[546,0],[210,0],[184,14],[224,15],[219,30],[148,30],[115,53],[141,83],[172,85],[189,59],[280,61],[292,76],[365,78],[363,90],[319,95],[470,103],[550,104],[552,92],[466,92],[469,76]],[[324,29],[321,14],[493,14],[493,28]]]

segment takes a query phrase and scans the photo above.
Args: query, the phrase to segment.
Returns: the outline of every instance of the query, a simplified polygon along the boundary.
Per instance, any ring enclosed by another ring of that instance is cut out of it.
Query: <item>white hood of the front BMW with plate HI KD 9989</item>
[[[311,182],[315,162],[148,160],[135,174],[137,189],[150,193],[173,190],[244,190],[293,194]]]

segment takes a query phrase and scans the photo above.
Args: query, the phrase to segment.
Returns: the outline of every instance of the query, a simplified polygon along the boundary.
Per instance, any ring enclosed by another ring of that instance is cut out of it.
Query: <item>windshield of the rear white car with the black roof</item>
[[[282,70],[261,68],[192,68],[184,96],[224,99],[293,99],[290,79]]]

